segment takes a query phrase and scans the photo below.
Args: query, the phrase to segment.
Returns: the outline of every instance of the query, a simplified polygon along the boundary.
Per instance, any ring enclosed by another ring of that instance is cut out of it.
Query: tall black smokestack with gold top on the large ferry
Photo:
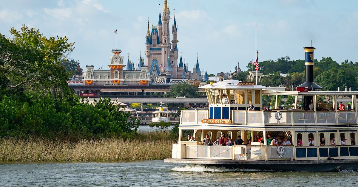
[[[322,87],[320,87],[318,84],[315,84],[313,82],[313,62],[314,62],[314,57],[313,57],[313,51],[316,48],[313,47],[306,47],[303,48],[305,50],[305,56],[306,56],[306,60],[305,60],[305,66],[306,66],[306,77],[305,77],[305,81],[303,84],[299,85],[298,87],[296,87],[297,91],[313,91],[315,89],[323,89]],[[313,96],[309,96],[309,95],[305,95],[303,97],[303,109],[309,109],[309,105],[311,103],[311,100],[313,100]]]

